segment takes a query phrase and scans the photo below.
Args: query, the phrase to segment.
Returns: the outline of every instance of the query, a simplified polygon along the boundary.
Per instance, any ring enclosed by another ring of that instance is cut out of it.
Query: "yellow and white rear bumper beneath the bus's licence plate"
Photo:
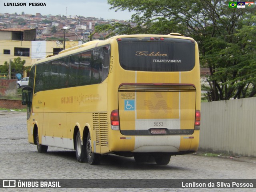
[[[192,135],[123,136],[116,132],[110,144],[111,152],[192,153],[198,149],[199,131]],[[190,152],[191,151],[191,152]]]

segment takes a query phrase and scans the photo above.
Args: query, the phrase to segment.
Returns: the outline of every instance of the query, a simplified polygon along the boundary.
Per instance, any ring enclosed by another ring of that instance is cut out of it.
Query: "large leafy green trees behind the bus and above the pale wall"
[[[229,8],[226,0],[108,0],[115,11],[136,11],[137,24],[96,26],[95,32],[169,34],[194,38],[200,62],[209,68],[209,101],[256,95],[256,8]]]

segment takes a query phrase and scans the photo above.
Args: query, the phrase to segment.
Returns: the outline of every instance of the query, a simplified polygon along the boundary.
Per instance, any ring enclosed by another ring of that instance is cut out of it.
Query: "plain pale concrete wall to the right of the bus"
[[[256,157],[256,97],[201,103],[199,150]]]

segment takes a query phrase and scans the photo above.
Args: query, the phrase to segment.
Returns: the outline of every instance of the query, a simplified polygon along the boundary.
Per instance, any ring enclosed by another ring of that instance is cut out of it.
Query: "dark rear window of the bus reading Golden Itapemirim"
[[[191,40],[122,38],[118,49],[125,70],[176,72],[190,71],[195,66],[195,42]]]

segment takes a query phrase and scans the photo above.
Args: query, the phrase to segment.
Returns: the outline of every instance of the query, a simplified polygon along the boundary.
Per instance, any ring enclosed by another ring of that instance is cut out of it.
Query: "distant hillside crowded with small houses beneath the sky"
[[[64,38],[63,27],[74,30],[81,39],[86,39],[84,34],[89,34],[94,30],[95,24],[109,24],[113,22],[125,22],[119,20],[104,20],[103,18],[95,17],[83,17],[83,16],[42,16],[40,13],[35,15],[31,14],[9,14],[0,13],[0,29],[5,28],[30,28],[36,29],[36,39],[45,38]],[[127,21],[126,21],[127,22]],[[56,31],[52,31],[52,27]],[[78,40],[78,37],[74,35],[74,32],[67,30],[68,40]],[[93,38],[97,39],[106,34],[97,34]]]

